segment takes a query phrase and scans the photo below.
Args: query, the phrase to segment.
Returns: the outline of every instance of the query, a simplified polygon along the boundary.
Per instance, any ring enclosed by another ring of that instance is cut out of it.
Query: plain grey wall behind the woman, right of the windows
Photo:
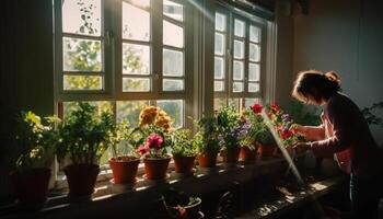
[[[359,107],[383,101],[383,1],[309,2],[307,15],[293,16],[293,73],[335,70],[343,78],[344,92]],[[382,145],[383,129],[372,130]]]

